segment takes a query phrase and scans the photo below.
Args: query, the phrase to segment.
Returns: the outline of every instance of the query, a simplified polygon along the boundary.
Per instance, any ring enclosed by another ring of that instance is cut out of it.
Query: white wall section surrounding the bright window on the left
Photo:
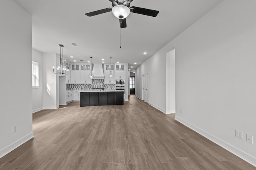
[[[43,53],[33,49],[32,61],[37,62],[39,67],[39,88],[32,90],[32,112],[34,113],[43,109]]]

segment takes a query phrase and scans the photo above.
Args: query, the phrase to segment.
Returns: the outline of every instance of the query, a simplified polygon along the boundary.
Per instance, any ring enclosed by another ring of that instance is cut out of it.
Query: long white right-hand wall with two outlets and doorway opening
[[[256,142],[245,136],[256,138],[255,6],[255,0],[224,0],[136,70],[136,77],[150,72],[150,102],[165,108],[163,59],[175,48],[175,119],[254,166]],[[235,129],[244,132],[244,140],[235,137]]]

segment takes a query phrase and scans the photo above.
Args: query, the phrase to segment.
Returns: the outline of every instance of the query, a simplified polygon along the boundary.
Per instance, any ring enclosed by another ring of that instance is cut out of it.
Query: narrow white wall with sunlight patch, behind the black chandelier
[[[58,109],[58,75],[53,73],[52,67],[57,68],[58,55],[43,53],[43,107],[44,109]]]

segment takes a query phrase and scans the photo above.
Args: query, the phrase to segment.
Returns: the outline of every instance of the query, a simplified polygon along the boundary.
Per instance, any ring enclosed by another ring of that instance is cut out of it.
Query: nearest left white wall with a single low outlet
[[[13,0],[0,1],[0,158],[33,135],[32,16]],[[12,127],[16,126],[16,133]]]

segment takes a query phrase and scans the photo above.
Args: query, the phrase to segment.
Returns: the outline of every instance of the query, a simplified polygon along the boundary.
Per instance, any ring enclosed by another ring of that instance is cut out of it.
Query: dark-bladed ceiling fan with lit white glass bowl
[[[109,0],[109,1],[112,2],[113,8],[105,8],[102,10],[86,13],[85,15],[91,17],[91,16],[96,16],[98,14],[103,14],[103,13],[112,11],[114,16],[119,19],[120,27],[125,28],[126,17],[130,14],[130,12],[142,14],[146,16],[152,16],[152,17],[156,17],[157,14],[159,13],[159,11],[156,11],[156,10],[149,10],[146,8],[140,8],[136,6],[130,7],[130,3],[133,0]]]

